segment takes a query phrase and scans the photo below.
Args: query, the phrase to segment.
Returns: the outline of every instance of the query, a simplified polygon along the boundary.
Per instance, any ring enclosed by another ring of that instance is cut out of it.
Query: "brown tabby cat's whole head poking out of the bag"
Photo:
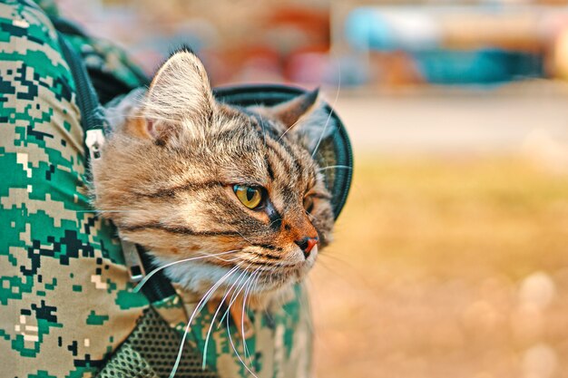
[[[93,162],[95,207],[161,263],[211,255],[168,272],[193,289],[233,267],[227,283],[248,272],[259,292],[296,282],[333,228],[312,158],[334,130],[325,109],[318,92],[274,107],[217,102],[199,59],[175,53]]]

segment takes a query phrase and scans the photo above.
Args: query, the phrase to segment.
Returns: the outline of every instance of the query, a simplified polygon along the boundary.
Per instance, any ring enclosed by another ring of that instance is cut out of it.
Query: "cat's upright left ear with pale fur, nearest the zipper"
[[[142,105],[142,127],[160,139],[182,127],[200,129],[214,108],[203,64],[189,50],[171,55],[154,76]]]

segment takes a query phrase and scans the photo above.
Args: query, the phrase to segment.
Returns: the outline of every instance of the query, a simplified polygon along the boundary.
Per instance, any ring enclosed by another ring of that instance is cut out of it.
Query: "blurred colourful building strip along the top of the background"
[[[152,73],[181,45],[215,84],[355,87],[568,78],[565,2],[61,0]]]

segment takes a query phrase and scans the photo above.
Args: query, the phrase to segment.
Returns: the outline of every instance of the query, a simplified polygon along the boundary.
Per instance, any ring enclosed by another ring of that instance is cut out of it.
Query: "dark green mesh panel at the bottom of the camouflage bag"
[[[149,309],[97,378],[168,378],[180,348],[181,336]],[[185,344],[176,378],[214,378],[201,370],[201,354]]]

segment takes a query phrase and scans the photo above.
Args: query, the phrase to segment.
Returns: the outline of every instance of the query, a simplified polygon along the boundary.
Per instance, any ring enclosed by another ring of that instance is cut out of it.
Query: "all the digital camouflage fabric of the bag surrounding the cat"
[[[49,0],[41,5],[56,13]],[[69,40],[89,73],[112,73],[126,87],[142,84],[140,71],[111,44],[81,35]],[[119,371],[129,364],[129,372],[142,374],[136,376],[164,376],[152,370],[144,351],[163,334],[152,330],[157,323],[149,316],[159,314],[181,340],[196,298],[180,293],[150,310],[146,298],[133,293],[116,230],[96,216],[86,195],[76,83],[49,17],[25,0],[0,1],[0,99],[0,375],[130,377]],[[240,330],[218,320],[208,371],[250,376],[242,359],[259,377],[307,375],[306,303],[297,287],[285,305],[249,312],[255,332],[247,356]],[[201,362],[211,316],[205,307],[191,326],[191,361],[198,355]],[[171,345],[177,354],[178,342]],[[176,376],[201,375],[195,372]]]

